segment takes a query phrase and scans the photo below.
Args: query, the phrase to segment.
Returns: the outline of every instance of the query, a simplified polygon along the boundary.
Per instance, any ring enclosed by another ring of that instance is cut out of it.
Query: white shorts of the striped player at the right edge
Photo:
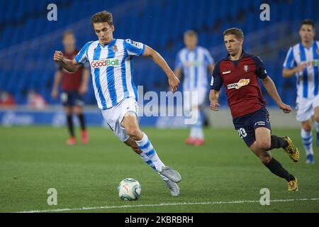
[[[315,114],[315,107],[319,106],[319,95],[313,98],[304,99],[297,97],[296,109],[297,109],[297,121],[307,121]]]

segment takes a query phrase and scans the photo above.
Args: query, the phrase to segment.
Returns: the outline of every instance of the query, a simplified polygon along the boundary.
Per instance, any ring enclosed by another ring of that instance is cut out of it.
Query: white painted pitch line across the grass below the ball
[[[289,201],[316,201],[319,198],[313,199],[274,199],[270,202],[289,202]],[[96,209],[118,209],[118,208],[132,208],[132,207],[147,207],[147,206],[178,206],[178,205],[211,205],[211,204],[253,204],[259,203],[259,200],[242,200],[242,201],[205,201],[205,202],[181,202],[181,203],[164,203],[164,204],[140,204],[140,205],[123,205],[123,206],[94,206],[82,208],[65,208],[53,210],[38,210],[38,211],[20,211],[18,213],[45,213],[45,212],[62,212],[62,211],[89,211]]]

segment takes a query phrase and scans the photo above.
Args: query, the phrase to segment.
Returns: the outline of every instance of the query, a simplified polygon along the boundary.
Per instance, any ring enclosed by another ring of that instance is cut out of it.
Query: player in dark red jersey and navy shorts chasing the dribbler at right
[[[274,175],[286,179],[289,191],[297,191],[296,177],[285,170],[269,150],[284,148],[294,162],[299,160],[299,151],[289,137],[272,135],[269,113],[257,78],[261,79],[268,94],[285,114],[291,112],[291,106],[281,101],[262,60],[242,50],[242,31],[229,28],[223,35],[228,57],[216,63],[211,81],[210,107],[218,111],[218,97],[224,84],[233,124],[240,137]]]

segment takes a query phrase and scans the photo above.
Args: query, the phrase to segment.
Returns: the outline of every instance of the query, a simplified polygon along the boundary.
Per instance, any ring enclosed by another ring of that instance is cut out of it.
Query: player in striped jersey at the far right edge
[[[305,20],[299,30],[301,43],[289,48],[284,61],[284,77],[296,75],[297,121],[301,121],[301,140],[306,150],[306,163],[313,164],[312,117],[315,117],[319,146],[319,42],[315,38],[315,23]]]

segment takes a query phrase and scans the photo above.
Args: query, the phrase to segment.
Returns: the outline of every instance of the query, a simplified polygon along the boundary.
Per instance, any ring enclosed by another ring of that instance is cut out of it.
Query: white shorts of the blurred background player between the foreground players
[[[190,111],[194,106],[201,106],[206,101],[207,89],[196,89],[191,92],[184,91],[184,109]]]

